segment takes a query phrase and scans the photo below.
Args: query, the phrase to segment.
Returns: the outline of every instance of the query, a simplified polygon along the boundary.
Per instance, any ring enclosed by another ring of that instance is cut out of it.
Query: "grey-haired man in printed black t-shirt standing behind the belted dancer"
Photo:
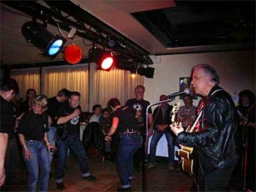
[[[145,88],[143,85],[138,85],[135,88],[135,99],[129,99],[126,102],[126,106],[128,107],[133,107],[137,111],[137,115],[140,116],[138,118],[137,123],[138,123],[138,129],[140,131],[141,136],[143,139],[146,137],[146,108],[150,104],[148,101],[144,100],[144,93],[145,93]],[[153,120],[152,116],[152,111],[151,108],[148,110],[148,128],[151,126]],[[151,136],[152,131],[149,132],[148,136]],[[143,142],[144,144],[144,142]],[[140,164],[143,161],[143,158],[145,158],[144,155],[144,146],[140,147],[134,156],[134,164],[135,164],[135,169],[137,171],[140,171]]]

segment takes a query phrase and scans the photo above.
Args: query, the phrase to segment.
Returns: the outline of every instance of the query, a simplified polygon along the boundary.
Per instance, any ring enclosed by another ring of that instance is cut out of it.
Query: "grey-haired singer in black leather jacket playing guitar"
[[[171,125],[180,145],[195,147],[200,171],[200,191],[227,191],[230,175],[238,162],[236,153],[236,107],[230,95],[218,87],[217,72],[208,64],[192,69],[192,85],[202,99],[196,133],[184,131],[181,123]]]

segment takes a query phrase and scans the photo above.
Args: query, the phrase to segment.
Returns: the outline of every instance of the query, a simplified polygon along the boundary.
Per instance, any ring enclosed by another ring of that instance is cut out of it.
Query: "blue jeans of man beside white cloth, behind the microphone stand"
[[[153,137],[151,139],[151,145],[150,145],[150,155],[149,155],[149,163],[155,164],[155,158],[156,158],[156,151],[157,151],[157,143],[159,142],[159,139],[165,134],[165,137],[167,139],[167,145],[168,145],[168,164],[174,163],[174,145],[173,145],[173,135],[170,133],[170,131],[154,131]]]

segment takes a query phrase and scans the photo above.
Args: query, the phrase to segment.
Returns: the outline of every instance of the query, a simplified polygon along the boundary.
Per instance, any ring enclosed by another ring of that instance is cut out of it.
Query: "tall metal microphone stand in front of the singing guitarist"
[[[175,96],[172,96],[172,97],[170,97],[170,99],[167,99],[165,101],[158,101],[154,104],[150,104],[146,108],[146,139],[144,141],[145,157],[143,158],[143,167],[142,167],[142,181],[143,181],[142,191],[148,191],[147,186],[146,186],[146,166],[147,166],[147,163],[148,163],[148,160],[147,160],[147,155],[148,155],[148,110],[151,106],[154,106],[154,105],[157,105],[157,104],[162,104],[162,103],[165,103],[165,102],[170,102],[170,101],[173,101],[174,99],[175,99]]]

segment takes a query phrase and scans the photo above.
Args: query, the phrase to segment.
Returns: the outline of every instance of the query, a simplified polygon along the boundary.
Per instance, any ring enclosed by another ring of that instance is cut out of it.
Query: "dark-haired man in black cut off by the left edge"
[[[4,184],[4,161],[8,136],[14,139],[15,112],[10,101],[19,93],[18,83],[13,79],[2,79],[0,87],[1,126],[0,126],[0,186]]]

